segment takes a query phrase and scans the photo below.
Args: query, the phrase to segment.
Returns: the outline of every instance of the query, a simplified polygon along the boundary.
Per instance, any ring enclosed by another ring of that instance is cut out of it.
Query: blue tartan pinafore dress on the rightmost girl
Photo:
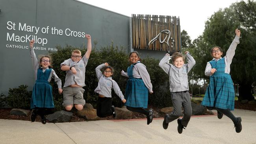
[[[224,58],[212,60],[210,64],[217,71],[210,76],[210,84],[201,105],[233,111],[235,90],[230,74],[225,73]]]

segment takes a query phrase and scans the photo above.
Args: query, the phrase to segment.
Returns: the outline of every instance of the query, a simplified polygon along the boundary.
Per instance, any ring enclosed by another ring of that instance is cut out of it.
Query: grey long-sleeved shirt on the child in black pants
[[[115,82],[112,77],[106,77],[102,74],[101,69],[105,66],[105,64],[101,64],[95,68],[97,78],[99,80],[98,87],[94,90],[98,94],[105,96],[107,98],[111,98],[111,89],[113,88],[117,96],[121,98],[121,100],[124,100],[124,95],[122,94],[122,91],[120,90],[119,86],[117,85],[117,82]]]

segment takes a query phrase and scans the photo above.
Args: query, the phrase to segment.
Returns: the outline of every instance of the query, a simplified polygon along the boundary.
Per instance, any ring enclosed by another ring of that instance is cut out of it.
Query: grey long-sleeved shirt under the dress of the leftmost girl
[[[33,64],[33,69],[34,69],[34,75],[35,75],[35,80],[37,80],[37,70],[40,66],[40,63],[37,61],[37,57],[35,55],[35,52],[33,50],[33,47],[30,47],[30,57],[32,59],[32,64]],[[40,66],[40,68],[43,68]],[[46,69],[49,69],[48,67]],[[46,69],[43,69],[43,72],[45,72]],[[57,83],[58,88],[61,88],[61,79],[57,76],[55,71],[52,69],[50,76],[48,78],[48,82],[51,81],[51,79],[54,79],[54,81]]]

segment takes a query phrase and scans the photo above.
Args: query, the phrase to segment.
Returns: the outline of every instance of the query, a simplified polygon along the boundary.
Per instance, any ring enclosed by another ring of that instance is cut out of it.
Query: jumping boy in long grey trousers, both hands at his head
[[[192,115],[192,107],[190,102],[190,94],[188,92],[188,80],[187,73],[195,65],[194,58],[185,52],[188,59],[188,63],[184,64],[185,58],[181,53],[174,53],[172,55],[173,65],[169,64],[169,54],[165,54],[160,61],[159,66],[167,73],[170,82],[171,99],[173,101],[173,112],[167,114],[163,120],[163,128],[167,129],[169,122],[176,120],[182,116],[182,106],[184,108],[183,118],[178,119],[178,133],[182,133],[182,130],[187,127],[187,124]]]

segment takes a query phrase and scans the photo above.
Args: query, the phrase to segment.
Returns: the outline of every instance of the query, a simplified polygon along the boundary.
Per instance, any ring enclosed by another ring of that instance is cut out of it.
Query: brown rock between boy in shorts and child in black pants
[[[85,120],[99,120],[96,109],[92,108],[91,104],[85,104],[81,111],[77,111],[77,116],[84,118]]]

